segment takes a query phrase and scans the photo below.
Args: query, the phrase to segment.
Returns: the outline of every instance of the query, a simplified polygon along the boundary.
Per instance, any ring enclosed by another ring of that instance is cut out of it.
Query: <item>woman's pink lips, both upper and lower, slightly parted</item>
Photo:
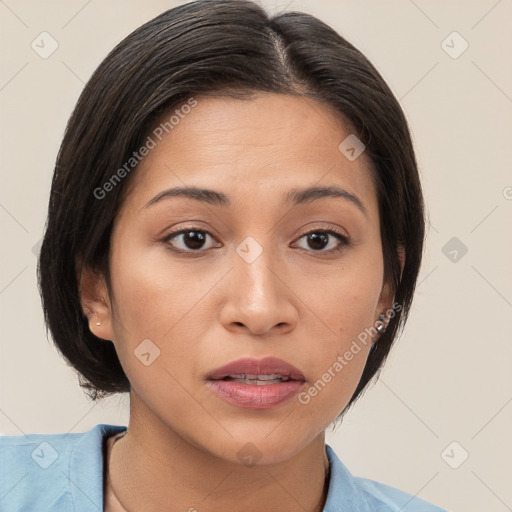
[[[272,375],[289,377],[290,380],[273,384],[245,384],[222,380],[233,374]],[[297,395],[305,385],[303,373],[295,366],[277,359],[243,358],[217,368],[208,375],[208,385],[213,393],[225,402],[244,409],[272,409]]]

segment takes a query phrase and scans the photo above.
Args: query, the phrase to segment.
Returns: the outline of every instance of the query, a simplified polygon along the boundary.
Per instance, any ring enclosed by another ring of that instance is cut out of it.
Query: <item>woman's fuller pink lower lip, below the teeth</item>
[[[271,409],[288,401],[304,386],[302,380],[277,384],[241,384],[227,380],[209,380],[212,391],[231,405],[245,409]]]

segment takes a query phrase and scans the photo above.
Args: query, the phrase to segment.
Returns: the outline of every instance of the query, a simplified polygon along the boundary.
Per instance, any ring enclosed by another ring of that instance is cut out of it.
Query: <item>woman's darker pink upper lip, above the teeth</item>
[[[228,375],[237,374],[249,375],[280,375],[282,377],[289,377],[293,380],[305,380],[302,372],[295,366],[278,359],[276,357],[265,357],[263,359],[253,359],[245,357],[231,361],[230,363],[213,370],[208,374],[209,380],[220,380]]]

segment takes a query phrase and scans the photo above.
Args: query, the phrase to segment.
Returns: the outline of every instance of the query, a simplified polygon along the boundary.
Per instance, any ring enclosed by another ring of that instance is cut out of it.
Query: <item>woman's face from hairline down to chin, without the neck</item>
[[[250,442],[286,460],[345,408],[376,339],[358,335],[391,305],[369,159],[339,149],[350,131],[326,106],[287,95],[198,97],[168,130],[131,178],[91,328],[114,340],[133,413],[224,459]],[[209,379],[267,357],[303,377]]]

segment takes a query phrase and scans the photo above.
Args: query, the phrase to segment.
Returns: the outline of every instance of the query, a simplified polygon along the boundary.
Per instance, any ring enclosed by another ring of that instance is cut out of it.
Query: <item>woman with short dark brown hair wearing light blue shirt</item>
[[[71,116],[39,261],[57,347],[129,424],[3,437],[0,510],[441,510],[324,437],[404,325],[423,236],[402,110],[332,29],[244,0],[146,23]]]

